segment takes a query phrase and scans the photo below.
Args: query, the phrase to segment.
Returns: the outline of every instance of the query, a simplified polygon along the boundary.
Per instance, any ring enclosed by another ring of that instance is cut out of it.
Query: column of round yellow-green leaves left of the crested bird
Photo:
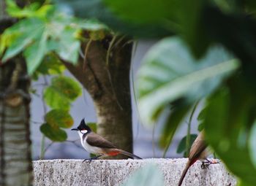
[[[44,91],[45,103],[52,109],[45,115],[46,123],[42,124],[40,128],[45,136],[57,142],[67,139],[67,133],[61,128],[70,128],[73,125],[69,107],[81,93],[82,89],[79,83],[71,77],[59,75],[52,78],[50,85]],[[58,138],[58,135],[61,137]]]

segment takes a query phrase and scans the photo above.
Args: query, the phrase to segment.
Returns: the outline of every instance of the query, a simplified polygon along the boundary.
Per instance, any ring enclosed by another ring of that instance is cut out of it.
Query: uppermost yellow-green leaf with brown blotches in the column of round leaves
[[[75,101],[82,94],[80,84],[71,77],[53,77],[51,85],[56,91],[71,101]]]

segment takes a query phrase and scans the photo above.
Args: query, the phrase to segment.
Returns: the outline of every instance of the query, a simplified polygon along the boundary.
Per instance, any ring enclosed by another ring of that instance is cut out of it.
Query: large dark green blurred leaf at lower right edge
[[[208,98],[204,120],[206,138],[233,174],[246,185],[255,185],[251,140],[255,139],[256,97],[240,76],[230,79],[227,86]]]

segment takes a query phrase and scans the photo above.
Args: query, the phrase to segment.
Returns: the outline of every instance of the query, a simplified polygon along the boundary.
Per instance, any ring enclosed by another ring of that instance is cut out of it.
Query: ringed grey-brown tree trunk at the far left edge
[[[0,19],[0,34],[15,20]],[[0,59],[0,185],[33,185],[29,132],[29,77],[18,56]]]

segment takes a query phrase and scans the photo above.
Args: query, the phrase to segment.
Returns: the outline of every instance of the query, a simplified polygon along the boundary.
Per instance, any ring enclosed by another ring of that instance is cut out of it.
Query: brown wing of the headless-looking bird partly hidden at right
[[[200,158],[201,153],[206,150],[207,144],[204,140],[203,131],[199,133],[189,152],[189,160]]]

